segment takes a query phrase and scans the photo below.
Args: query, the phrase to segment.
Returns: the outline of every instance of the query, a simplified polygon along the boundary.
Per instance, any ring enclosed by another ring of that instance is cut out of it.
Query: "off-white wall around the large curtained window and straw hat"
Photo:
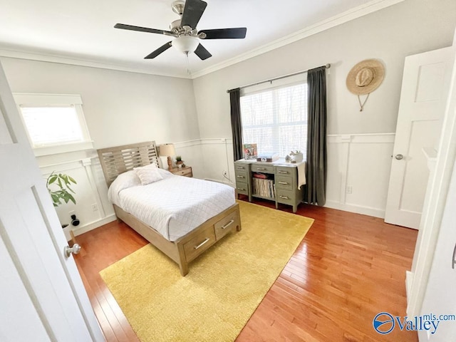
[[[231,137],[227,89],[326,63],[331,63],[326,78],[328,134],[335,137],[373,134],[371,138],[375,140],[375,135],[394,133],[405,56],[450,46],[455,25],[456,1],[407,0],[196,78],[193,84],[201,138]],[[385,80],[360,112],[356,95],[346,88],[346,75],[366,58],[383,61]],[[389,142],[366,140],[352,145],[353,140],[348,157],[348,147],[336,143],[337,139],[330,138],[328,142],[327,205],[383,217],[392,135]],[[225,155],[223,149],[224,145],[219,145],[211,154],[216,158]],[[226,168],[224,160],[204,161],[207,178],[219,177]],[[341,170],[348,173],[341,175]],[[370,170],[375,172],[368,172]],[[346,194],[344,183],[352,187],[352,194]],[[372,202],[374,196],[380,197]]]

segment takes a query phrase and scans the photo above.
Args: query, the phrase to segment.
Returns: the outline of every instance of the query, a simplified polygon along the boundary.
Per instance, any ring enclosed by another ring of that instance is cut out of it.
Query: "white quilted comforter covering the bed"
[[[133,183],[133,184],[131,184]],[[110,201],[175,241],[235,203],[228,185],[166,175],[148,185],[113,183]]]

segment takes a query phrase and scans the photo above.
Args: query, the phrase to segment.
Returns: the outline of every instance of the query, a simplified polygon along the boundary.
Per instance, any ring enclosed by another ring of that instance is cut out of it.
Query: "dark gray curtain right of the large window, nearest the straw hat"
[[[326,202],[326,67],[307,72],[307,165],[304,201]]]

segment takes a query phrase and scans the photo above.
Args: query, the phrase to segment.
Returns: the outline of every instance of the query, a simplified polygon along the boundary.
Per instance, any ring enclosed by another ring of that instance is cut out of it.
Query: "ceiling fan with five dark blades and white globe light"
[[[172,21],[170,31],[157,30],[156,28],[147,28],[140,26],[132,26],[126,24],[115,24],[115,28],[123,28],[124,30],[149,32],[164,34],[165,36],[175,37],[174,40],[168,41],[165,45],[160,46],[157,50],[145,56],[145,59],[155,58],[160,53],[167,51],[168,48],[174,46],[177,50],[185,53],[195,52],[203,61],[211,57],[209,51],[199,43],[199,39],[243,39],[247,33],[247,28],[217,28],[212,30],[197,30],[197,24],[201,19],[207,2],[202,0],[177,0],[172,3],[172,11],[180,15],[180,19]]]

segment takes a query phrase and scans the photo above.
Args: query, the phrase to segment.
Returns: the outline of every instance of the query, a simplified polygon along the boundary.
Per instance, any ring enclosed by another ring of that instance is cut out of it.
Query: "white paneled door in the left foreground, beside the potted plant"
[[[0,341],[104,341],[0,64]]]

